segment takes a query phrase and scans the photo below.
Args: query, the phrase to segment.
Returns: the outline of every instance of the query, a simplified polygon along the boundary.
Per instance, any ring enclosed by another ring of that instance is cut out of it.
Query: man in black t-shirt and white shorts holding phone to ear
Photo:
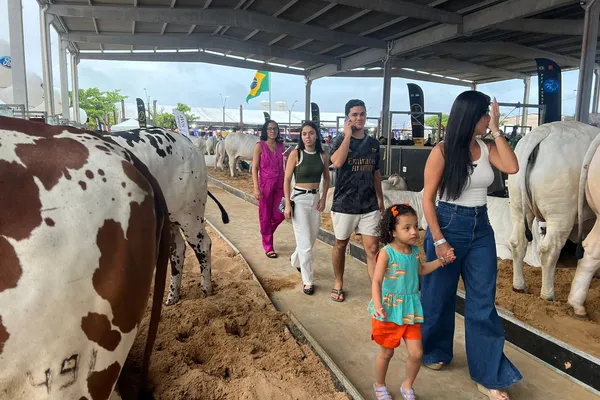
[[[335,233],[333,270],[335,285],[331,298],[341,302],[344,296],[346,247],[353,231],[362,236],[367,253],[367,269],[373,279],[375,256],[379,250],[377,227],[384,211],[379,142],[365,133],[367,112],[362,100],[346,103],[344,134],[329,145],[331,163],[337,168],[337,179],[331,207]]]

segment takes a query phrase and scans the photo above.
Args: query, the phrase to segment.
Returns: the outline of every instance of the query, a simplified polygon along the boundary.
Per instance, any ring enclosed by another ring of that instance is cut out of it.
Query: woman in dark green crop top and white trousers
[[[313,247],[321,223],[319,214],[325,209],[329,190],[329,156],[323,151],[321,135],[313,122],[302,124],[300,139],[296,151],[287,160],[283,192],[285,217],[292,219],[296,236],[296,250],[290,261],[302,273],[304,293],[311,295],[314,293]],[[321,177],[323,190],[319,196]]]

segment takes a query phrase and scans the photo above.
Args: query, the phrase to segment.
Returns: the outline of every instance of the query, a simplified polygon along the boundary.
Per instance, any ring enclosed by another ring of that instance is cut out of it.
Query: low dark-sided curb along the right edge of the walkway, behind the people
[[[254,197],[241,190],[210,176],[208,180],[234,196],[257,205]],[[318,239],[329,246],[333,246],[335,243],[334,234],[323,228],[319,228]],[[367,262],[367,256],[362,246],[350,242],[347,254],[362,263]],[[463,292],[457,292],[456,302],[457,314],[464,317],[465,295]],[[506,310],[498,308],[498,315],[502,319],[506,342],[511,347],[600,396],[600,380],[597,378],[600,376],[600,359],[517,320]]]

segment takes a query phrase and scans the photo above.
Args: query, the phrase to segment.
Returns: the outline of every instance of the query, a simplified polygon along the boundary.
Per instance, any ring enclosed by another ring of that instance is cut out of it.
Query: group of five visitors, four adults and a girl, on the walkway
[[[346,300],[346,248],[350,235],[360,234],[372,287],[367,306],[372,316],[371,339],[380,346],[374,397],[392,398],[385,377],[402,340],[408,353],[406,379],[400,388],[404,400],[416,398],[412,385],[421,365],[440,370],[451,363],[455,295],[462,277],[471,378],[490,399],[507,400],[506,388],[522,376],[504,355],[504,330],[495,307],[496,246],[486,200],[487,188],[494,180],[492,165],[507,174],[516,173],[519,167],[499,130],[498,103],[477,91],[460,94],[452,106],[444,140],[429,155],[423,198],[428,225],[425,263],[417,257],[419,216],[415,210],[409,204],[384,207],[380,142],[365,133],[364,102],[348,101],[345,115],[343,134],[328,138],[328,153],[317,126],[304,123],[285,168],[279,126],[275,121],[263,126],[252,175],[266,256],[278,256],[273,235],[284,218],[291,219],[296,249],[290,264],[301,273],[303,292],[315,292],[314,245],[332,164],[337,177],[331,207],[335,280],[330,297],[338,303]],[[481,140],[488,128],[492,143]],[[380,249],[380,245],[384,247]]]

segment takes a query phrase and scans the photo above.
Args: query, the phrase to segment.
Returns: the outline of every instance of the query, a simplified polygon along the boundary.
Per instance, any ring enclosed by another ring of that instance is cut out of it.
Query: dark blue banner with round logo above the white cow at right
[[[536,58],[538,67],[538,104],[546,106],[546,115],[541,120],[539,114],[538,124],[556,122],[561,120],[562,114],[562,83],[561,69],[552,60]]]

